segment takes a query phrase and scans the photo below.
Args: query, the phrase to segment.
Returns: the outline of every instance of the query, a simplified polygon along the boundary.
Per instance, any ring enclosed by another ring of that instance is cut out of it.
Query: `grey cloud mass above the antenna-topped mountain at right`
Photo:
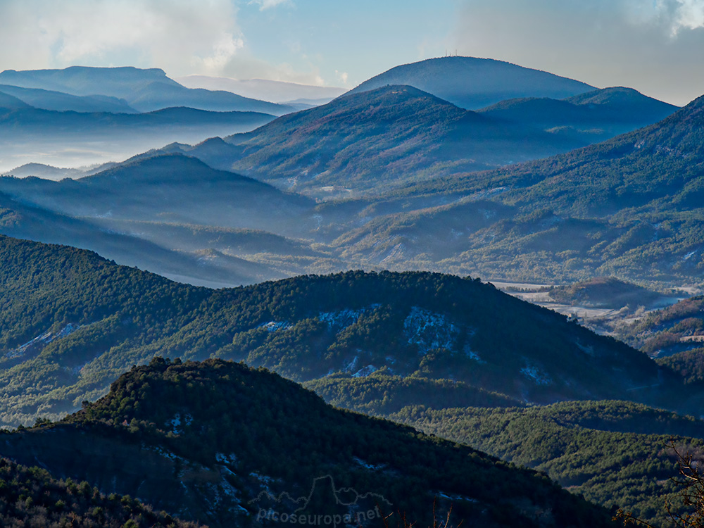
[[[704,93],[704,0],[465,0],[451,47],[684,104]]]

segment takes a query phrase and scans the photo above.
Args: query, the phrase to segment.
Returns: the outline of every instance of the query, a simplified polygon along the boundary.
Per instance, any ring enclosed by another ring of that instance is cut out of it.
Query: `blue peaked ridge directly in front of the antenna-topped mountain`
[[[391,85],[345,94],[225,142],[181,149],[215,167],[307,194],[378,195],[441,175],[569,151],[675,109],[634,90],[607,89],[574,101],[505,101],[477,113],[415,87]]]

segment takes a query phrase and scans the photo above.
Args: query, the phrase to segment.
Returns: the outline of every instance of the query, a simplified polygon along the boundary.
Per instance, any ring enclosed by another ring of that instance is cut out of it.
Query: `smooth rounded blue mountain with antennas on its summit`
[[[392,84],[408,84],[468,110],[478,110],[506,99],[564,99],[594,89],[584,82],[503,61],[452,56],[396,66],[363,82],[350,93]]]

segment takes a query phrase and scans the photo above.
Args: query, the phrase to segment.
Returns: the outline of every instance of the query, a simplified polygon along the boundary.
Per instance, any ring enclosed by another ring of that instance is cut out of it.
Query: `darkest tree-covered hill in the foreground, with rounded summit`
[[[450,501],[443,497],[453,497],[457,522],[610,525],[605,510],[540,474],[408,427],[334,409],[294,382],[239,363],[155,358],[122,375],[108,395],[63,424],[44,426],[44,434],[58,436],[66,427],[76,427],[98,444],[109,436],[220,467],[237,489],[239,505],[252,517],[258,503],[249,500],[259,495],[261,482],[268,483],[271,494],[287,492],[295,498],[306,496],[315,478],[329,474],[337,486],[383,496],[392,505],[389,513],[405,512],[421,524],[432,522],[434,501],[447,508]],[[18,435],[7,434],[6,445],[20,445]],[[0,446],[0,453],[3,449],[8,447]],[[321,498],[308,508],[327,513],[329,504]],[[543,515],[536,516],[536,508]],[[218,515],[213,525],[246,514]]]

